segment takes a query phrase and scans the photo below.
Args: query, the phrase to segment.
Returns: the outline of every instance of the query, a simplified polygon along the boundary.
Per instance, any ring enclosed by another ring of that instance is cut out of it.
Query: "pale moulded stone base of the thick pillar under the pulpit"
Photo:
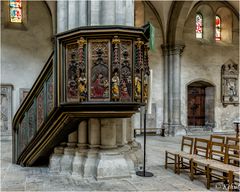
[[[64,154],[50,156],[50,172],[78,179],[128,178],[143,164],[143,151],[136,141],[116,149],[64,148]]]

